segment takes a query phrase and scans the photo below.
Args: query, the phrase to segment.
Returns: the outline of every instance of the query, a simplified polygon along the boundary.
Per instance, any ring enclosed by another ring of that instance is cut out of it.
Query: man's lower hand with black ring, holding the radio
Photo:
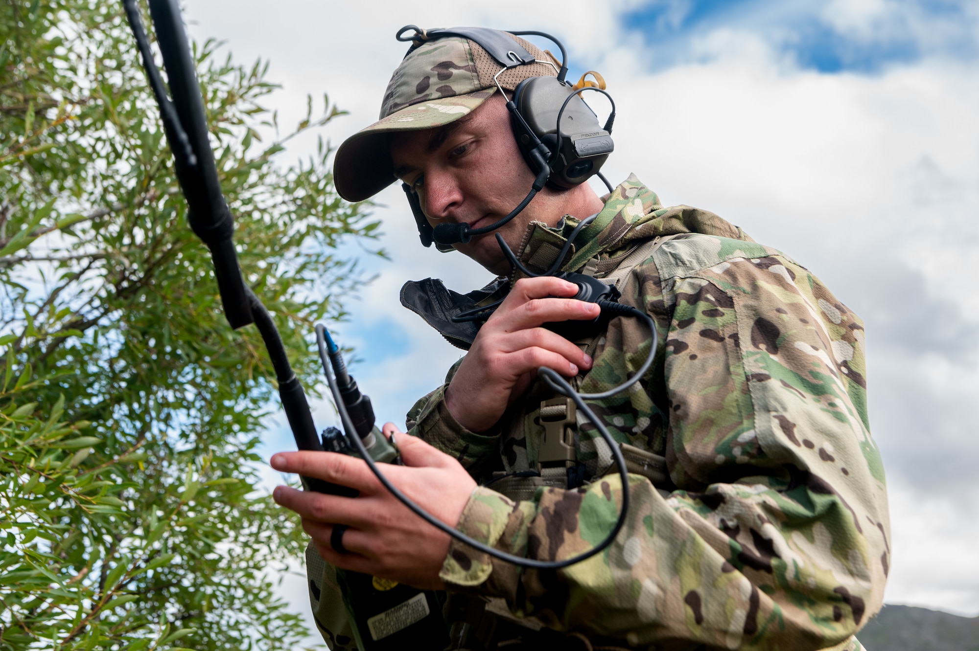
[[[476,482],[451,456],[421,439],[401,434],[393,423],[384,433],[396,436],[405,465],[381,464],[384,475],[408,498],[455,527]],[[279,453],[272,467],[350,486],[356,498],[306,493],[278,486],[272,497],[303,518],[326,561],[354,572],[422,588],[443,589],[439,572],[448,553],[449,537],[412,513],[377,480],[367,464],[353,456],[322,452]],[[330,545],[334,524],[350,527],[344,534],[347,554]]]

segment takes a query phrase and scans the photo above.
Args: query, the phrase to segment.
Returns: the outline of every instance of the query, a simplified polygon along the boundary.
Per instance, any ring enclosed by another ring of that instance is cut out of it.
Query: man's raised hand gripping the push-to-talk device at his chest
[[[591,358],[581,348],[540,327],[597,317],[594,303],[561,298],[577,293],[574,282],[552,277],[521,279],[513,285],[480,328],[445,390],[445,406],[459,424],[474,432],[488,430],[527,389],[539,367],[569,377],[591,368]]]

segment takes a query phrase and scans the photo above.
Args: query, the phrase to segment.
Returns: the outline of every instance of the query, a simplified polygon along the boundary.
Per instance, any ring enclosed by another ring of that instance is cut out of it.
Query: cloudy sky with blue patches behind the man
[[[666,205],[719,213],[865,320],[891,499],[886,600],[979,614],[979,3],[185,2],[195,37],[225,41],[243,63],[271,61],[281,123],[303,117],[307,93],[349,110],[325,131],[335,145],[376,119],[404,24],[558,35],[569,76],[598,70],[616,99],[610,180],[634,172]],[[349,247],[378,276],[338,332],[379,418],[403,423],[459,351],[400,307],[400,285],[431,276],[467,291],[489,274],[422,248],[396,186],[378,202],[391,260]],[[319,406],[317,422],[332,419]],[[288,449],[273,426],[266,457]],[[307,610],[302,581],[284,589]]]

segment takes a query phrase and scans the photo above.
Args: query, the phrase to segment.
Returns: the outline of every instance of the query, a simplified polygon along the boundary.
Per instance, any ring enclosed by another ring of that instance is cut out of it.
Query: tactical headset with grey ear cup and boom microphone
[[[402,36],[411,29],[414,30],[414,35]],[[561,50],[561,68],[557,69],[550,61],[537,61],[509,34],[543,36],[553,41]],[[554,67],[557,76],[530,77],[521,81],[513,91],[513,98],[506,103],[517,146],[531,171],[536,174],[530,193],[508,215],[479,229],[472,229],[468,224],[440,224],[432,228],[422,211],[418,194],[407,184],[401,184],[411,205],[423,245],[431,246],[434,241],[440,251],[451,251],[454,250],[452,244],[456,242],[465,243],[475,236],[495,231],[520,214],[544,185],[555,190],[568,190],[597,175],[608,186],[609,192],[612,191],[600,170],[614,149],[611,134],[615,121],[615,102],[601,88],[574,87],[565,80],[568,74],[568,54],[561,41],[540,31],[504,32],[486,27],[424,30],[413,24],[401,27],[397,31],[396,39],[412,42],[411,48],[404,55],[407,57],[423,43],[448,36],[461,36],[478,43],[490,57],[503,66],[493,77],[493,82],[504,97],[506,94],[499,85],[498,77],[510,68],[546,64]],[[584,90],[599,92],[612,103],[612,112],[604,125],[599,124],[597,115],[584,103],[581,97]]]

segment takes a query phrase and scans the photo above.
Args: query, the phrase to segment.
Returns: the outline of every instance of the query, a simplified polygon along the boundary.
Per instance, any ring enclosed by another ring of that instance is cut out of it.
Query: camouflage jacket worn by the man
[[[545,267],[576,224],[531,225],[522,261]],[[665,240],[619,284],[620,300],[656,322],[655,363],[632,390],[589,403],[634,453],[624,530],[598,556],[553,572],[520,570],[453,542],[441,577],[451,591],[505,600],[517,618],[596,644],[861,648],[854,633],[879,609],[890,561],[862,322],[785,254],[713,213],[664,208],[634,176],[607,198],[562,268],[601,278],[657,237]],[[474,331],[446,316],[505,292],[508,280],[467,296],[441,283],[433,290],[432,281],[405,290],[412,309],[467,347]],[[606,390],[637,369],[651,343],[645,328],[614,319],[591,342],[594,365],[578,378],[580,390]],[[409,412],[411,434],[457,457],[478,481],[536,468],[537,415],[551,394],[533,387],[492,431],[475,433],[452,418],[443,392]],[[498,484],[478,488],[458,528],[547,560],[600,542],[622,486],[594,427],[578,424],[583,488],[538,487],[523,499],[494,491]],[[658,459],[661,472],[641,471]]]

